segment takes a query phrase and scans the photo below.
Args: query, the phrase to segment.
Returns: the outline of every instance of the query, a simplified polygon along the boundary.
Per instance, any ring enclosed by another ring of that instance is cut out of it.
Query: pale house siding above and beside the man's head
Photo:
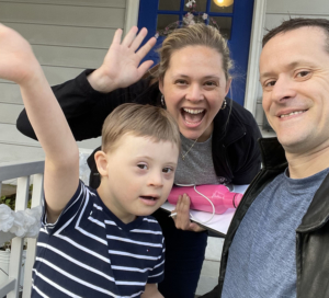
[[[263,0],[260,0],[263,1]],[[265,20],[264,20],[264,30],[263,34],[266,33],[266,30],[271,30],[282,23],[284,20],[290,18],[322,18],[329,20],[329,1],[328,0],[268,0],[265,4]],[[261,38],[259,38],[261,43]],[[259,57],[251,64],[259,65]],[[259,78],[257,78],[259,80]],[[254,96],[256,103],[256,119],[262,129],[263,123],[263,110],[262,110],[262,90],[259,84],[258,92]],[[268,133],[262,129],[264,137],[274,136],[274,133]]]

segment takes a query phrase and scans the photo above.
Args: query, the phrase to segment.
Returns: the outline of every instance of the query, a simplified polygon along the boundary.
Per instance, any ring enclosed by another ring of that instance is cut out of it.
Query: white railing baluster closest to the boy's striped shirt
[[[42,198],[44,195],[44,175],[35,174],[33,175],[33,193],[31,208],[39,206],[42,204]],[[23,298],[30,298],[31,287],[32,287],[32,268],[35,260],[36,251],[36,239],[27,239],[27,252],[25,261],[25,273],[24,273],[24,285],[23,285]]]

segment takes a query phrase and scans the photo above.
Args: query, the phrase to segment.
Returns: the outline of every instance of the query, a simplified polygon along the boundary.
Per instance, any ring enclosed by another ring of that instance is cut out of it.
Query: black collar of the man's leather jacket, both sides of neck
[[[277,138],[259,139],[263,168],[283,172],[287,167],[285,152]],[[321,228],[329,220],[329,174],[316,192],[297,232],[310,232]]]

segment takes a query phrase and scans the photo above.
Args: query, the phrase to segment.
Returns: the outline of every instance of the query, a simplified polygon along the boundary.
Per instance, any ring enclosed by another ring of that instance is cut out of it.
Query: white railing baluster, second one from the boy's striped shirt
[[[30,176],[18,179],[18,193],[15,211],[25,210],[29,199]],[[15,278],[15,288],[7,295],[7,298],[19,298],[20,276],[22,267],[22,251],[24,238],[15,237],[11,242],[11,254],[9,263],[9,278]]]

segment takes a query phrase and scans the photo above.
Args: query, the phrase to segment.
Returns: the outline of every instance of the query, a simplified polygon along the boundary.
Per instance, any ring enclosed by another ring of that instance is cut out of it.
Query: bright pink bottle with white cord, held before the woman
[[[228,208],[237,208],[241,202],[242,194],[231,193],[224,185],[198,185],[196,191],[212,200],[215,206],[215,214],[224,214]],[[202,195],[195,192],[194,186],[173,186],[168,202],[175,205],[179,196],[186,194],[191,199],[191,209],[213,213],[212,204]]]

